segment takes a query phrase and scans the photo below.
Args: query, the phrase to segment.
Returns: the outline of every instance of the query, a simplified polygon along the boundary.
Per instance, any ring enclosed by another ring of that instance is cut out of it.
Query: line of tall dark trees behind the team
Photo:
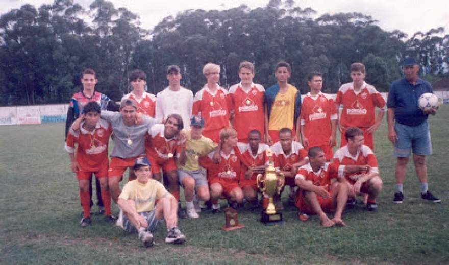
[[[0,17],[0,105],[66,103],[81,88],[80,73],[92,68],[97,89],[119,101],[130,91],[128,74],[147,74],[148,92],[167,86],[166,67],[180,66],[182,85],[194,93],[205,84],[203,66],[221,66],[219,84],[239,82],[238,64],[255,65],[255,82],[276,82],[280,60],[292,66],[290,83],[308,91],[307,75],[318,70],[323,90],[336,92],[350,82],[349,66],[366,66],[366,81],[387,91],[401,77],[399,62],[413,56],[421,74],[448,76],[449,34],[443,28],[417,32],[384,31],[361,13],[324,14],[293,0],[271,0],[255,9],[186,10],[167,16],[153,29],[140,17],[105,0],[86,10],[72,0],[39,8],[25,4]]]

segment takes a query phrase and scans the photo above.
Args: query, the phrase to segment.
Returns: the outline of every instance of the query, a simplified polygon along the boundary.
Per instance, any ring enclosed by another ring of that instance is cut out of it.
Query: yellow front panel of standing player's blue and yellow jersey
[[[271,106],[271,114],[268,130],[279,131],[282,128],[293,129],[294,103],[298,89],[288,85],[285,94],[280,92],[276,95]]]

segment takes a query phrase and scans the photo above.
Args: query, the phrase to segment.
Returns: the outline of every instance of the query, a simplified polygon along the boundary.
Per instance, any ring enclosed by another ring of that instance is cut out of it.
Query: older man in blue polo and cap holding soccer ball
[[[391,83],[387,102],[388,139],[394,144],[394,155],[397,157],[393,202],[402,203],[404,200],[403,183],[410,149],[413,151],[416,175],[421,183],[421,198],[441,202],[427,188],[425,161],[426,156],[432,154],[427,116],[435,115],[436,109],[423,112],[418,107],[419,96],[433,93],[433,89],[429,82],[418,78],[419,66],[414,58],[406,58],[403,66],[405,77]]]

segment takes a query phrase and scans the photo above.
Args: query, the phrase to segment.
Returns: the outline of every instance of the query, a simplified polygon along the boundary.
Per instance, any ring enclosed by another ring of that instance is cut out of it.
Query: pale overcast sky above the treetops
[[[23,4],[39,7],[53,0],[0,0],[0,14],[20,8]],[[73,0],[88,8],[93,0]],[[245,4],[254,9],[266,6],[268,0],[112,0],[115,8],[126,7],[138,14],[142,28],[152,30],[162,18],[188,9],[226,10]],[[359,12],[379,20],[379,27],[386,31],[400,30],[412,37],[417,31],[443,27],[449,34],[449,8],[447,0],[295,0],[297,6],[311,7],[317,15]]]

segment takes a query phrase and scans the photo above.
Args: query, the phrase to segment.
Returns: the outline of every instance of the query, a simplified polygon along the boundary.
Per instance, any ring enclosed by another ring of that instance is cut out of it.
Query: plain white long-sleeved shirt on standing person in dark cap
[[[170,87],[166,87],[157,95],[156,119],[161,121],[171,114],[179,114],[183,119],[184,128],[189,128],[192,104],[191,90],[181,86],[178,91],[173,91]]]

